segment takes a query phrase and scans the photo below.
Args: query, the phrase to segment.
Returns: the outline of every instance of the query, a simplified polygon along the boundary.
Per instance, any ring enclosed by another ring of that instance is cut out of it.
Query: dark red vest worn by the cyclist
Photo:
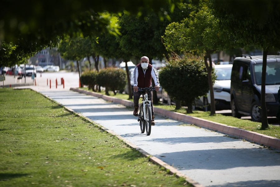
[[[139,88],[148,88],[152,85],[152,65],[148,64],[148,68],[144,75],[143,69],[141,67],[141,63],[137,65],[138,69],[138,87]]]

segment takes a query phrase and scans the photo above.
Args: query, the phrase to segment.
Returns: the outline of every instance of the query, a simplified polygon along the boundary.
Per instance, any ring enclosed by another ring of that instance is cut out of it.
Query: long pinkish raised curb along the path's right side
[[[113,103],[122,104],[127,107],[133,107],[133,102],[125,100],[125,99],[113,98],[110,96],[102,95],[100,93],[90,92],[90,91],[76,89],[76,88],[70,88],[70,90],[79,92],[79,93],[84,93],[87,95],[92,95],[92,96],[102,98],[104,100],[107,100],[107,101],[110,101]],[[253,131],[240,129],[237,127],[232,127],[229,125],[224,125],[222,123],[212,122],[212,121],[201,119],[198,117],[188,116],[188,115],[185,115],[182,113],[171,112],[171,111],[164,110],[161,108],[154,107],[154,113],[164,116],[164,117],[169,117],[174,120],[187,122],[190,124],[195,124],[199,127],[207,128],[207,129],[210,129],[213,131],[218,131],[218,132],[222,132],[222,133],[234,136],[234,137],[242,138],[247,141],[254,141],[254,143],[258,143],[258,144],[261,144],[264,146],[273,147],[275,149],[280,149],[280,139],[279,138],[267,136],[267,135],[253,132]]]

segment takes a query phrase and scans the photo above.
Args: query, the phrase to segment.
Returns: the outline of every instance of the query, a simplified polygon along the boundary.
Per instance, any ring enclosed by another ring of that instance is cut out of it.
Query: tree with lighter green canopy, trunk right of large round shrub
[[[189,8],[193,11],[188,18],[166,27],[164,42],[171,51],[204,56],[211,98],[210,115],[215,115],[211,54],[229,46],[231,42],[227,32],[219,27],[218,20],[203,2],[198,6],[189,5]]]

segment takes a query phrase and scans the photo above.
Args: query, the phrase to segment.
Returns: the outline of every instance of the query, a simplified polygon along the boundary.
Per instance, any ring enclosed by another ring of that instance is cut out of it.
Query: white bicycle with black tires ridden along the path
[[[151,124],[152,124],[152,108],[151,108],[151,101],[148,100],[147,91],[155,90],[155,87],[150,88],[138,88],[139,91],[142,93],[142,103],[140,104],[140,112],[138,116],[138,122],[140,122],[140,129],[141,133],[145,132],[149,136],[151,134]],[[144,127],[145,123],[145,127]]]

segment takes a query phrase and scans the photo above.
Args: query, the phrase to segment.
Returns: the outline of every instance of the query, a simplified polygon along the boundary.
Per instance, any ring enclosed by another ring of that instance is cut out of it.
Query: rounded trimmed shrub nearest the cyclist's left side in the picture
[[[96,82],[105,87],[106,95],[109,95],[109,90],[116,94],[116,90],[123,90],[127,84],[126,72],[123,69],[106,68],[99,71]]]

